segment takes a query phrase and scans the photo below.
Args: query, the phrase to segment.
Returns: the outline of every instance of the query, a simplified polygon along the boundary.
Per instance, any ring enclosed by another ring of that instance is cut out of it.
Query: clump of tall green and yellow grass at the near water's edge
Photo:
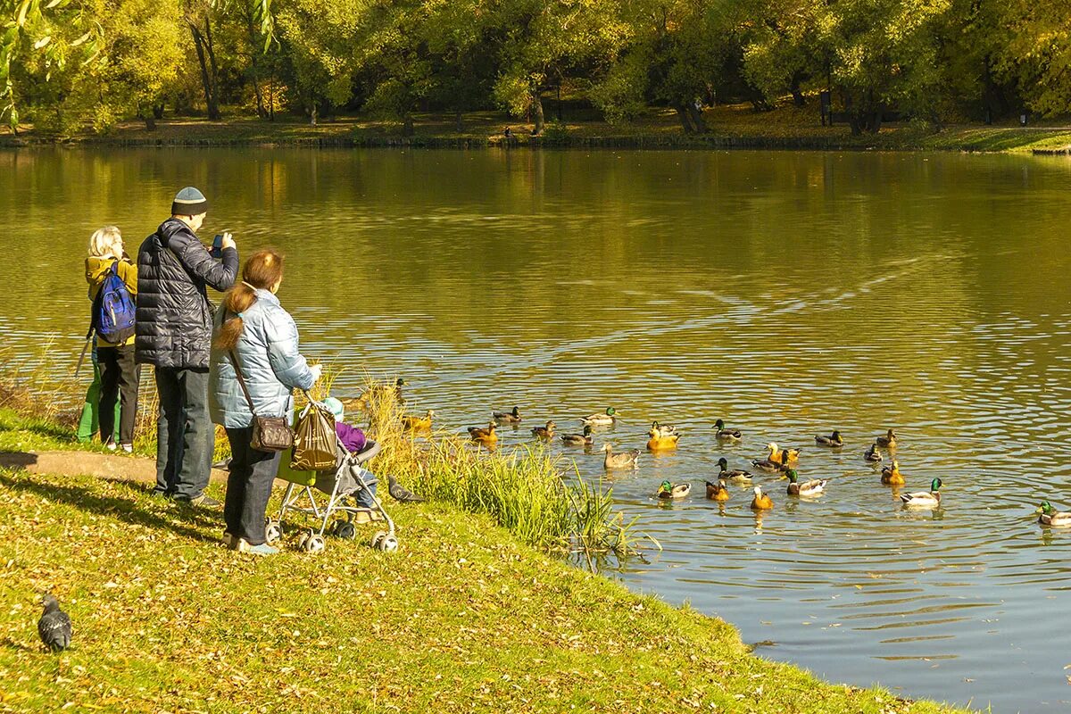
[[[623,556],[638,541],[635,521],[613,510],[610,490],[585,483],[574,464],[542,447],[488,451],[450,431],[407,432],[394,380],[366,376],[363,394],[350,404],[363,410],[369,438],[382,444],[374,469],[381,476],[393,474],[422,496],[489,514],[545,550]]]

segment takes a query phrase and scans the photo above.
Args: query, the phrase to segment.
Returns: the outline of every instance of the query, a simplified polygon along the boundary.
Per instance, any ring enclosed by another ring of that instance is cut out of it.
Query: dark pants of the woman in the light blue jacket
[[[265,511],[282,452],[261,452],[250,445],[253,427],[227,429],[230,441],[230,476],[223,518],[227,532],[250,545],[265,542]]]

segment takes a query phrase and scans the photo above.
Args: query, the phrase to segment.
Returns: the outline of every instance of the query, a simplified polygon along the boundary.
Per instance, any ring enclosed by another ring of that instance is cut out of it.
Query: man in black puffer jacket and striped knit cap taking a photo
[[[238,248],[224,233],[217,262],[201,245],[195,233],[207,211],[199,191],[183,188],[171,203],[171,217],[141,244],[135,350],[137,363],[153,365],[156,374],[154,492],[217,506],[205,495],[215,445],[208,413],[213,308],[206,287],[227,290],[235,284]]]

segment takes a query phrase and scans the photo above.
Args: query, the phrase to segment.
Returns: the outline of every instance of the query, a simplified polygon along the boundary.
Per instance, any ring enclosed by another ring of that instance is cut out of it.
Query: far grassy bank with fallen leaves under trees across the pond
[[[576,121],[567,113],[540,137],[531,124],[500,112],[473,112],[458,128],[454,116],[422,113],[413,134],[403,136],[395,122],[361,116],[333,117],[316,126],[280,116],[268,122],[245,116],[221,121],[167,119],[149,132],[140,122],[119,124],[108,134],[46,136],[26,127],[18,137],[0,134],[0,146],[87,145],[106,147],[402,147],[402,148],[591,148],[591,149],[813,149],[813,150],[922,150],[970,152],[1071,151],[1071,122],[1017,123],[987,126],[950,124],[936,131],[919,123],[887,124],[878,134],[853,136],[846,124],[821,126],[817,106],[779,106],[756,112],[751,105],[725,105],[705,112],[708,131],[685,135],[674,112],[648,109],[628,125]],[[553,112],[548,115],[548,121]],[[512,140],[502,136],[506,126]]]

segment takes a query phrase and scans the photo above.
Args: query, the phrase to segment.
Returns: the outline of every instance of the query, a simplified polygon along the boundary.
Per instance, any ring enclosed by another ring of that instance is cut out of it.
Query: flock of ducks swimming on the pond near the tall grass
[[[518,407],[514,407],[511,411],[492,412],[492,416],[493,419],[486,427],[469,427],[468,432],[472,441],[492,447],[498,443],[497,427],[501,425],[515,427],[522,422]],[[579,422],[584,426],[583,431],[579,434],[560,435],[562,443],[568,446],[592,446],[594,444],[594,430],[616,425],[618,417],[614,408],[609,407],[605,412],[583,416],[579,419]],[[556,428],[557,425],[553,421],[548,421],[542,426],[532,428],[531,432],[539,439],[549,441],[556,436]],[[720,443],[735,444],[743,439],[741,431],[728,428],[724,420],[718,420],[714,428],[716,429],[715,437]],[[669,424],[660,424],[659,422],[651,423],[651,428],[648,430],[647,437],[647,450],[650,452],[663,452],[676,449],[677,442],[680,440],[677,427]],[[896,441],[895,431],[888,429],[884,435],[878,436],[874,440],[874,443],[866,449],[863,454],[863,460],[874,466],[881,464],[885,457],[881,455],[880,450],[885,449],[890,454],[894,453]],[[825,449],[842,449],[844,446],[844,439],[841,432],[836,430],[828,437],[815,437],[814,442],[816,446]],[[782,477],[787,478],[788,486],[786,493],[788,496],[814,498],[820,496],[826,490],[826,486],[829,484],[828,478],[814,478],[802,482],[799,480],[796,469],[799,466],[801,449],[781,449],[773,442],[767,444],[767,449],[769,453],[766,457],[753,460],[752,466],[766,473],[782,474]],[[615,452],[613,444],[607,441],[602,445],[602,451],[605,452],[603,466],[607,471],[635,469],[639,461],[640,451],[638,449],[628,452]],[[711,501],[724,502],[729,500],[731,492],[729,491],[728,484],[740,486],[752,485],[754,476],[750,471],[742,469],[729,470],[728,461],[724,457],[719,459],[718,466],[720,469],[718,482],[706,482],[707,498]],[[890,466],[881,468],[881,483],[891,486],[902,486],[906,483],[903,474],[900,472],[900,461],[895,458],[892,459]],[[940,478],[934,478],[930,484],[930,490],[901,493],[900,500],[905,507],[909,508],[936,508],[940,506]],[[673,484],[668,481],[663,481],[655,496],[664,500],[677,500],[688,497],[691,491],[691,484]],[[766,511],[773,507],[773,499],[763,490],[761,486],[754,486],[753,493],[754,498],[751,501],[752,508],[755,511]],[[1057,514],[1053,512],[1050,515],[1051,518],[1055,518],[1056,520],[1060,520],[1062,516],[1066,516],[1068,523],[1071,525],[1071,514]],[[1043,510],[1042,518],[1044,517],[1045,512]]]

